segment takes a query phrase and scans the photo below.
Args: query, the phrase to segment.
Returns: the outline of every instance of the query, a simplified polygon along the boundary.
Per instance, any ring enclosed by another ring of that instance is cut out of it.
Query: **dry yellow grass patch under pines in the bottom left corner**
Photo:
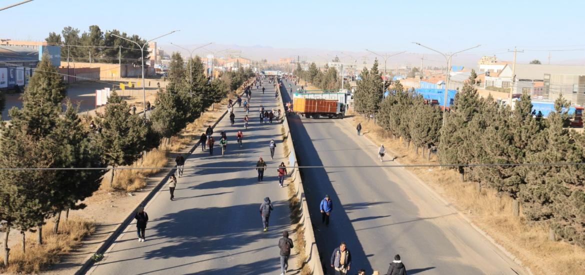
[[[12,246],[8,267],[0,267],[0,273],[39,273],[47,266],[58,263],[61,256],[81,243],[81,239],[95,231],[93,223],[84,219],[61,221],[59,233],[53,233],[53,222],[47,222],[43,231],[43,245],[36,243],[36,233],[26,236],[26,253],[22,244]]]

